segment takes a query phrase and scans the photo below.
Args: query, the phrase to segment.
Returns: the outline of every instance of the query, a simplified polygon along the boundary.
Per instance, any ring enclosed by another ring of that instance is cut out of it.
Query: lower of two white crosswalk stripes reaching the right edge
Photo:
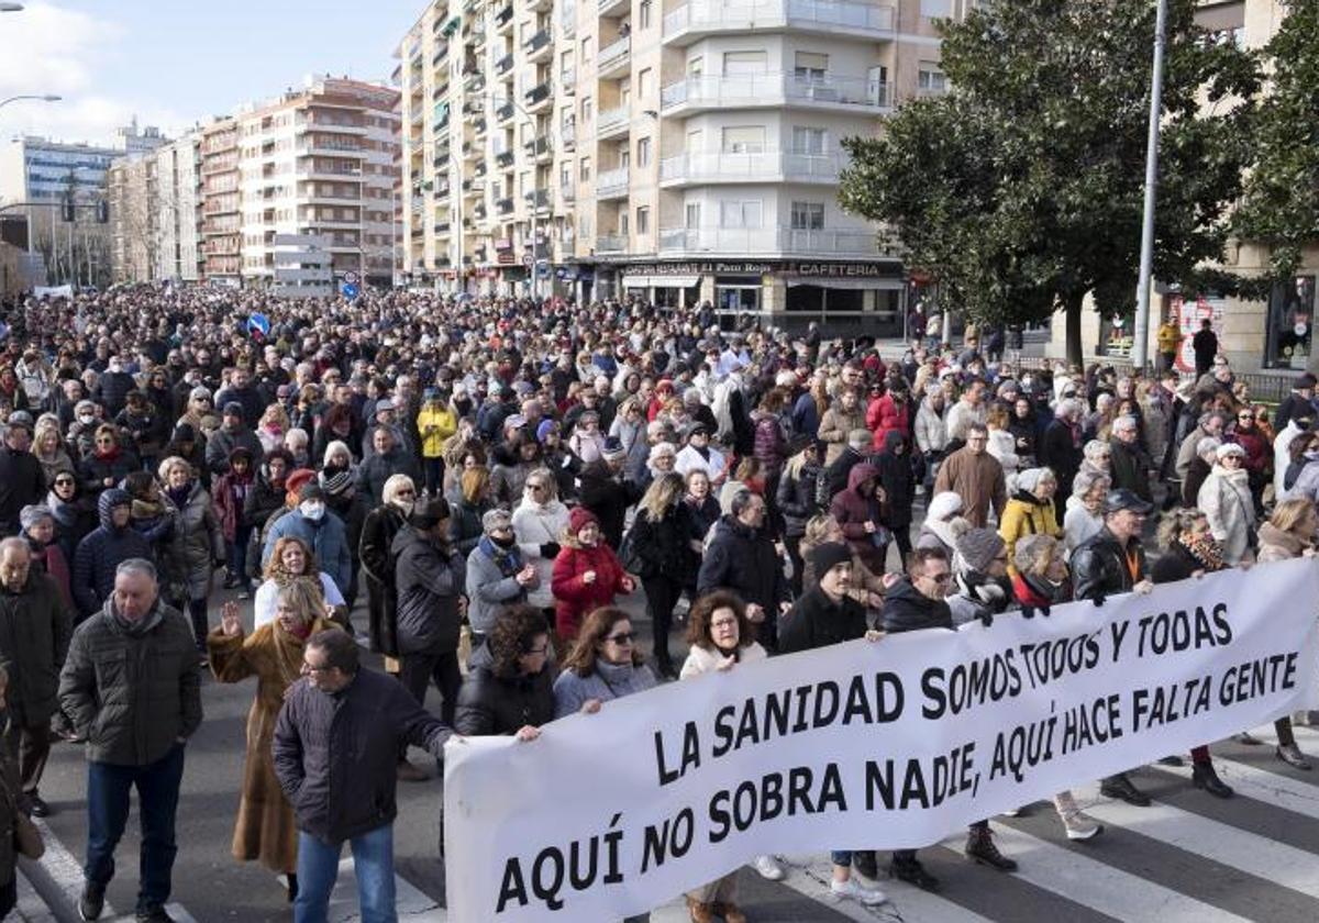
[[[1203,858],[1319,898],[1319,857],[1269,837],[1154,802],[1133,807],[1099,796],[1099,786],[1074,789],[1084,811],[1105,824],[1122,827]]]

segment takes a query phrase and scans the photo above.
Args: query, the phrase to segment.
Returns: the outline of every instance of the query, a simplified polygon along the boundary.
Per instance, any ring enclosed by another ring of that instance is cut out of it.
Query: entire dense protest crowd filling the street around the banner
[[[11,306],[0,811],[45,816],[51,745],[86,746],[82,918],[136,789],[137,919],[170,919],[208,682],[255,679],[233,858],[284,873],[294,919],[318,923],[347,843],[363,918],[386,920],[397,785],[433,778],[417,749],[534,748],[557,717],[667,682],[1314,554],[1315,380],[1254,403],[1212,334],[1194,374],[1170,353],[1119,374],[1018,368],[1004,331],[950,345],[935,318],[889,361],[815,324],[720,320],[146,286]],[[1308,769],[1287,717],[1277,736]],[[1232,796],[1207,746],[1167,759]],[[1121,773],[1101,792],[1150,803]],[[1068,839],[1101,836],[1070,792],[1054,808]],[[966,856],[1017,869],[989,820]],[[839,901],[882,903],[884,876],[940,886],[913,850],[831,862]],[[691,890],[691,919],[754,919],[737,879]]]

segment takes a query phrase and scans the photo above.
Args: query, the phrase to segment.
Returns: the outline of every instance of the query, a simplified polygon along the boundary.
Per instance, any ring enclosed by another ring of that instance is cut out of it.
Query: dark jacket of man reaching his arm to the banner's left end
[[[400,745],[441,759],[451,734],[383,672],[361,669],[335,694],[302,679],[289,687],[274,725],[274,774],[298,829],[343,843],[397,816]]]

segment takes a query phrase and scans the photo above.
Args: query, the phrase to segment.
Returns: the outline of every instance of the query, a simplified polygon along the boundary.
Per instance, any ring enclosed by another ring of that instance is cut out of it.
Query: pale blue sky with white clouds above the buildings
[[[136,115],[177,137],[309,74],[388,80],[426,0],[54,0],[0,13],[0,137],[108,144]]]

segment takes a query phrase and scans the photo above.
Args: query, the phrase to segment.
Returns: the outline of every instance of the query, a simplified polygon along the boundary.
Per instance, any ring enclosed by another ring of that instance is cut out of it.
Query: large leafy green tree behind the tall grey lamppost
[[[1154,253],[1167,282],[1221,257],[1258,86],[1254,58],[1199,29],[1195,7],[1169,3]],[[839,199],[897,233],[944,309],[988,323],[1063,309],[1079,363],[1086,295],[1109,313],[1136,299],[1154,4],[992,3],[942,33],[950,92],[845,140]]]

